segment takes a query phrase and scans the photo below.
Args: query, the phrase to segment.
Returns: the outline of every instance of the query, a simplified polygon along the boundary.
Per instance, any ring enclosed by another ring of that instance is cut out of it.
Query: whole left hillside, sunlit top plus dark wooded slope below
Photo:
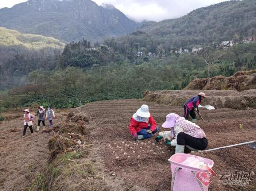
[[[55,68],[65,44],[52,37],[0,27],[0,90],[23,85],[35,69]]]

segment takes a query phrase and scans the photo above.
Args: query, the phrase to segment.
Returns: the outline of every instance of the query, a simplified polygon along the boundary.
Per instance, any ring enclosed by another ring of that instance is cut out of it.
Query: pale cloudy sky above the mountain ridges
[[[0,8],[12,7],[27,0],[0,0]],[[108,3],[122,11],[127,17],[136,20],[173,19],[190,11],[227,0],[93,0],[98,5]]]

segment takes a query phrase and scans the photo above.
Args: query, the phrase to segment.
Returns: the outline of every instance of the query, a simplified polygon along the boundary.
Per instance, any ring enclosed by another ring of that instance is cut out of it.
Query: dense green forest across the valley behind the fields
[[[9,75],[29,72],[24,77],[26,85],[2,91],[0,107],[36,103],[66,108],[96,100],[140,98],[146,90],[181,89],[196,77],[208,77],[206,52],[210,59],[218,58],[210,67],[211,77],[256,68],[256,43],[153,57],[137,56],[132,48],[123,54],[114,38],[108,41],[111,47],[91,45],[87,40],[69,43],[61,55],[49,56],[39,66],[33,66],[40,63],[33,57],[26,57],[23,63],[24,57],[15,57],[8,66]]]

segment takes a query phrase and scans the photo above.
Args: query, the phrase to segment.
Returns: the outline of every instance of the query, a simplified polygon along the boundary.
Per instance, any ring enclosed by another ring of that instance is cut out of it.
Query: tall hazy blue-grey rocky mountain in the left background
[[[0,26],[70,42],[128,34],[138,24],[115,7],[91,0],[28,0],[0,9]]]

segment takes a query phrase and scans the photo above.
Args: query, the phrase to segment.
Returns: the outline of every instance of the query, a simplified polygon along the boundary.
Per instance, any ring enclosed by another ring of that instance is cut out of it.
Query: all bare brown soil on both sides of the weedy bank
[[[83,162],[93,162],[97,174],[101,174],[100,177],[102,177],[93,182],[93,190],[170,190],[172,175],[167,159],[174,154],[175,148],[167,146],[163,141],[155,144],[154,138],[157,134],[151,139],[134,142],[128,130],[132,114],[142,104],[149,106],[160,131],[164,131],[161,125],[165,121],[166,114],[183,115],[181,106],[173,107],[135,99],[88,103],[72,109],[70,112],[72,115],[68,114],[68,122],[86,122],[84,123],[87,128],[86,138],[92,146],[87,149],[83,158],[71,161],[67,165],[79,166],[84,164]],[[201,114],[205,121],[198,118],[196,123],[204,129],[207,135],[209,141],[207,149],[256,140],[256,110],[254,109],[207,110],[202,108]],[[3,121],[0,126],[0,190],[29,191],[32,180],[47,165],[49,159],[47,142],[53,134],[39,132],[30,135],[27,130],[25,139],[20,139],[23,128],[22,119],[17,118],[19,116],[17,113],[5,115],[7,120]],[[67,114],[63,112],[59,115],[65,118]],[[55,120],[55,124],[58,121],[62,120]],[[213,171],[217,174],[220,171],[252,171],[248,186],[222,186],[218,184],[218,177],[214,177],[209,186],[210,191],[256,190],[254,158],[256,151],[247,145],[193,154],[213,160]],[[59,174],[57,180],[59,178],[66,181],[65,174]],[[77,174],[71,178],[72,180],[69,178],[67,181],[79,182],[72,185],[76,186],[75,190],[87,191],[90,189],[82,187],[82,185],[86,185],[87,180],[91,180],[91,177],[87,178],[81,178]],[[53,185],[55,184],[53,183]],[[70,189],[63,190],[72,189],[70,187]]]

